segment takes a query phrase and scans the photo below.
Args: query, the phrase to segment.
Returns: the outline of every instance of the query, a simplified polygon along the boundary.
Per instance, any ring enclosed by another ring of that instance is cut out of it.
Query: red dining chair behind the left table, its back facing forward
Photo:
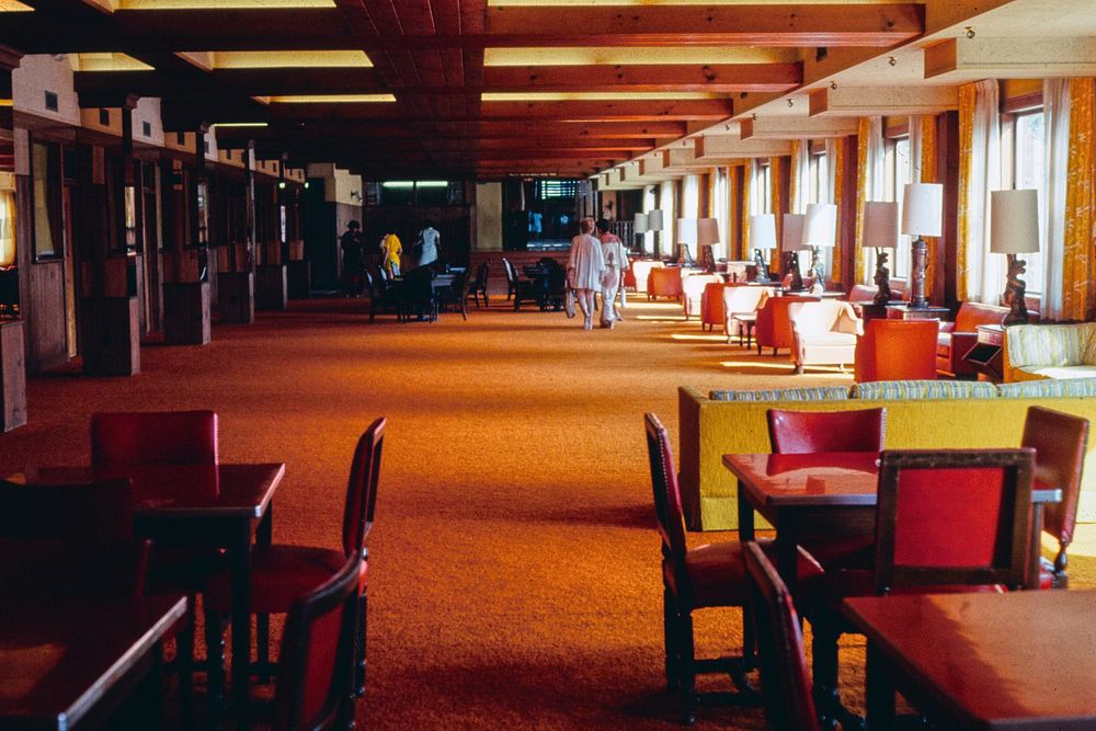
[[[91,415],[91,464],[96,468],[141,465],[216,465],[217,414],[196,411],[100,412]],[[201,544],[201,536],[194,536]],[[149,591],[186,594],[187,623],[176,638],[180,686],[189,704],[194,662],[194,606],[224,551],[215,547],[156,547],[149,566]]]

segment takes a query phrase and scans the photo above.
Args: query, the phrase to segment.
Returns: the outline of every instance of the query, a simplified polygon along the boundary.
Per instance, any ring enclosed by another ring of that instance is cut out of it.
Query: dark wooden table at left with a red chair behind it
[[[126,478],[134,491],[134,533],[157,547],[222,548],[232,584],[232,696],[246,719],[250,704],[251,550],[270,545],[274,493],[285,465],[139,465],[37,467],[12,481],[61,484]]]

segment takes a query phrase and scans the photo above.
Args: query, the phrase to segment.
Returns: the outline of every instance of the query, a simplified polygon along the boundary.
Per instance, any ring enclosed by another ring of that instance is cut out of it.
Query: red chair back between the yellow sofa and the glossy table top
[[[769,409],[768,439],[773,454],[817,452],[882,452],[887,411],[787,411]]]

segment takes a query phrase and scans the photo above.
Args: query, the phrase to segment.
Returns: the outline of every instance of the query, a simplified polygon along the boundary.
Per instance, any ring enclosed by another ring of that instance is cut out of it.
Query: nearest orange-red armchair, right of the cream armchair
[[[856,339],[856,381],[936,380],[936,320],[875,319]]]

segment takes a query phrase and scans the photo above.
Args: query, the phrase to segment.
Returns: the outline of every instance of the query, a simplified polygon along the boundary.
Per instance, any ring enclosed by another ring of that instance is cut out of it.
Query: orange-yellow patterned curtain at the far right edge
[[[1070,168],[1065,187],[1062,317],[1088,318],[1093,239],[1093,79],[1070,80]]]

